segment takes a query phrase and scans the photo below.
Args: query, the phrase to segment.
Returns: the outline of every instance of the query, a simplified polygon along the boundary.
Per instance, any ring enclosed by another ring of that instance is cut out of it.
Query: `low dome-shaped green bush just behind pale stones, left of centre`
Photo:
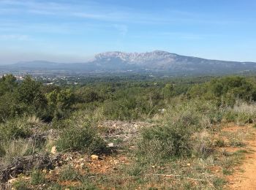
[[[88,151],[89,153],[106,153],[108,151],[105,141],[90,125],[64,129],[56,145],[59,151]]]

